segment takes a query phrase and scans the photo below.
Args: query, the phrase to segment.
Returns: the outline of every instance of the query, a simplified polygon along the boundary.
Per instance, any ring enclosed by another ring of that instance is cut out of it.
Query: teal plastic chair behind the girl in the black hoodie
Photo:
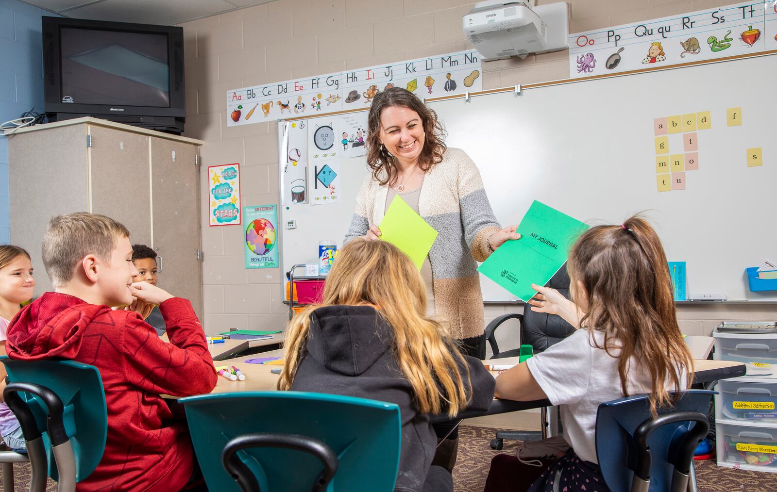
[[[402,438],[396,404],[296,391],[179,401],[211,492],[394,490]]]

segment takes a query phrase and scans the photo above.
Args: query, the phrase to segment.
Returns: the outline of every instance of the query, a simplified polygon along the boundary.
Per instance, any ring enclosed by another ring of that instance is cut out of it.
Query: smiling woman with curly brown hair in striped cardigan
[[[401,196],[439,233],[421,268],[427,286],[427,314],[448,327],[467,355],[485,359],[483,296],[477,262],[505,241],[516,226],[501,228],[483,189],[480,172],[464,151],[448,148],[437,114],[412,92],[389,88],[372,101],[368,116],[367,163],[372,170],[357,196],[345,241],[380,238],[385,211]],[[454,440],[455,425],[446,430]],[[445,446],[438,447],[438,454]],[[437,458],[435,458],[437,461]]]

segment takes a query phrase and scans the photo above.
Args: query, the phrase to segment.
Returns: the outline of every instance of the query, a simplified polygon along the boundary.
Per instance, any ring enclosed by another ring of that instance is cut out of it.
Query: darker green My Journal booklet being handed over
[[[531,284],[548,283],[588,227],[535,200],[518,226],[521,239],[502,244],[478,271],[526,302],[537,293]]]

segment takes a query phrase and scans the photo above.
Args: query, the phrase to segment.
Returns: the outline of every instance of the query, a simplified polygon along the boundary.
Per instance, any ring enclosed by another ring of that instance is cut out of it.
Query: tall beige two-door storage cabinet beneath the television
[[[159,286],[202,319],[200,140],[96,118],[23,128],[9,136],[11,242],[30,251],[36,296],[51,289],[40,259],[48,221],[102,213],[133,244],[157,251]]]

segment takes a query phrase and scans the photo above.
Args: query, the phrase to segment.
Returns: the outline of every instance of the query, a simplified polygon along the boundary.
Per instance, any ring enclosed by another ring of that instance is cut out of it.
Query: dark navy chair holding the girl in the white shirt
[[[610,490],[672,490],[675,473],[687,476],[693,451],[707,434],[706,413],[714,394],[684,391],[674,407],[658,412],[658,418],[650,414],[647,395],[599,405],[596,455]]]

